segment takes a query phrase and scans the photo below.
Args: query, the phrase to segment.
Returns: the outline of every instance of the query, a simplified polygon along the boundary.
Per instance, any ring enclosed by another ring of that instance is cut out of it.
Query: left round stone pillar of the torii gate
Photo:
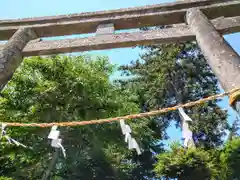
[[[23,60],[22,50],[27,43],[36,39],[36,33],[30,28],[20,28],[0,50],[0,91],[11,79]]]

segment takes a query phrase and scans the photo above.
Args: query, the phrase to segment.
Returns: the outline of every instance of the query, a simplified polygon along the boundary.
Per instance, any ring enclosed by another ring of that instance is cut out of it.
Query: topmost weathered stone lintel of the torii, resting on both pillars
[[[210,19],[240,15],[239,0],[175,2],[138,8],[52,17],[0,21],[0,40],[9,39],[19,27],[32,28],[39,37],[95,33],[100,24],[113,23],[115,30],[184,23],[188,8],[199,7]]]

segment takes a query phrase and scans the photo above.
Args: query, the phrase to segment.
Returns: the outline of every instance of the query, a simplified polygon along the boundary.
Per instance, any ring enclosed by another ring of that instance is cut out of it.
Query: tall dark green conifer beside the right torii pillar
[[[121,67],[132,76],[123,86],[133,87],[147,109],[158,109],[195,101],[219,93],[218,81],[196,43],[144,47],[140,60]],[[223,143],[228,128],[227,114],[217,102],[209,101],[186,109],[193,119],[192,130],[198,147],[209,149]],[[161,124],[180,124],[177,111],[157,117]],[[168,126],[165,126],[168,127]]]

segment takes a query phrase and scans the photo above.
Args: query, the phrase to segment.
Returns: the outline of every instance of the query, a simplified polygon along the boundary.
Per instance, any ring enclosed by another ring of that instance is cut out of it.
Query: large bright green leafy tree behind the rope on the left
[[[105,57],[27,58],[1,93],[0,118],[3,122],[42,123],[139,112],[137,95],[110,82],[114,69]],[[149,144],[160,135],[148,118],[128,123],[145,150],[141,156],[127,149],[117,122],[61,127],[67,158],[59,154],[50,179],[145,179],[155,162]],[[47,140],[50,129],[7,130],[11,137],[32,149],[2,140],[0,174],[13,179],[41,179],[52,158]]]

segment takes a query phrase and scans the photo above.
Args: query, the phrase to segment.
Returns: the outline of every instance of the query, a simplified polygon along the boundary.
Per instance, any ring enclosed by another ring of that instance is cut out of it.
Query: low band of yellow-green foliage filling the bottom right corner
[[[185,149],[173,144],[171,149],[157,156],[155,171],[159,177],[172,179],[240,179],[240,138],[228,141],[221,148],[211,150]]]

